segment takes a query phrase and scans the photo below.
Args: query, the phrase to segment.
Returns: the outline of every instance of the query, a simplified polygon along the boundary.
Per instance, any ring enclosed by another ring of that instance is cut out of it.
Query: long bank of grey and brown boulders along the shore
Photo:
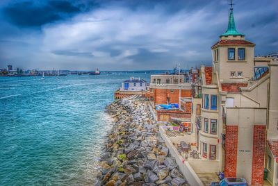
[[[147,102],[122,99],[107,110],[114,123],[95,185],[187,185],[158,133]]]

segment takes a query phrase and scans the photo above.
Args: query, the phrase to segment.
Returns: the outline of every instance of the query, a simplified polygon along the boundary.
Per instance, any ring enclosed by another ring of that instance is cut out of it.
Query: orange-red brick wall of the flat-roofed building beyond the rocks
[[[170,103],[179,103],[179,90],[174,89],[171,92],[170,89],[154,89],[154,105],[166,104],[167,97],[170,98]],[[191,90],[181,90],[181,97],[191,97]]]

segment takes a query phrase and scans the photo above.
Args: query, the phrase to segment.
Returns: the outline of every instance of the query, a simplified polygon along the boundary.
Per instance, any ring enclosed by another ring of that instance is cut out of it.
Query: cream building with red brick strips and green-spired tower
[[[192,84],[197,149],[213,170],[263,185],[264,169],[278,184],[278,60],[254,58],[255,44],[236,30],[233,8],[227,31],[211,47],[213,66]]]

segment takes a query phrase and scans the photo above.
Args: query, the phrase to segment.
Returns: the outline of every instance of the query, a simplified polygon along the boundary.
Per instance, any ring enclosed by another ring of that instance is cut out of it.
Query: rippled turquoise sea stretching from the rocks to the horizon
[[[0,185],[93,185],[113,92],[163,72],[0,77]]]

